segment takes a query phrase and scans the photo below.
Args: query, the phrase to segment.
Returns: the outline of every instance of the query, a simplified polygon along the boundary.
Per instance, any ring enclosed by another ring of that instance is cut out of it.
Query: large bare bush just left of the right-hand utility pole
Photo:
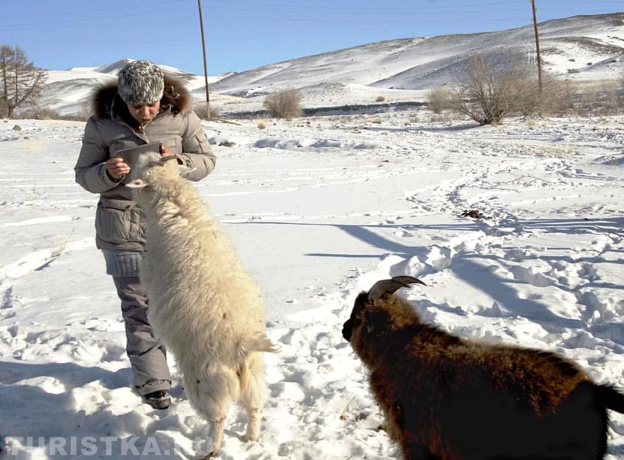
[[[528,80],[524,67],[502,67],[483,56],[472,57],[454,90],[454,108],[480,125],[499,125],[531,94]]]

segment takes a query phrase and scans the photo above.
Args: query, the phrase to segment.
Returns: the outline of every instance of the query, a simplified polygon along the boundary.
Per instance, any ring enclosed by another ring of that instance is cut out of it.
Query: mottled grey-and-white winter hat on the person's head
[[[163,97],[165,76],[160,67],[149,61],[126,64],[119,71],[117,81],[117,92],[127,104],[151,104]]]

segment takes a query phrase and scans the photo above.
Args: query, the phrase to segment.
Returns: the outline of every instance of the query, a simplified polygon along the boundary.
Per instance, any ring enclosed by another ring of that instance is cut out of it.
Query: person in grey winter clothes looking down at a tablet
[[[96,246],[121,299],[127,355],[138,393],[152,407],[171,405],[171,375],[163,347],[147,319],[148,299],[139,281],[144,249],[144,218],[122,179],[129,166],[115,153],[161,142],[161,155],[174,155],[201,180],[215,165],[192,98],[180,81],[156,64],[134,61],[123,67],[117,82],[101,86],[93,97],[94,115],[86,123],[74,171],[76,182],[99,193]]]

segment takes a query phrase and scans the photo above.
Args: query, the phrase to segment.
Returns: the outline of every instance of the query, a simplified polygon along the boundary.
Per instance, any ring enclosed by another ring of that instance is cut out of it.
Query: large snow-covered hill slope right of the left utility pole
[[[624,13],[547,21],[540,25],[545,69],[565,74],[578,69],[592,79],[613,78],[622,62],[603,66],[624,53]],[[453,76],[475,54],[502,61],[535,59],[533,26],[495,33],[441,35],[431,38],[388,40],[345,50],[316,54],[244,71],[213,86],[218,93],[252,96],[294,86],[355,84],[376,88],[422,90],[453,81]]]

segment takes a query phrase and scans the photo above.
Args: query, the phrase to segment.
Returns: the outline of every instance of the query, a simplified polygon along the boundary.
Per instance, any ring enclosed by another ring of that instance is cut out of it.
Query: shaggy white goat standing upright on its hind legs
[[[248,413],[245,439],[258,440],[267,398],[261,352],[277,347],[265,332],[258,285],[181,169],[159,154],[141,154],[127,186],[139,188],[146,216],[141,280],[149,321],[173,353],[190,403],[212,422],[214,456],[237,401]]]

